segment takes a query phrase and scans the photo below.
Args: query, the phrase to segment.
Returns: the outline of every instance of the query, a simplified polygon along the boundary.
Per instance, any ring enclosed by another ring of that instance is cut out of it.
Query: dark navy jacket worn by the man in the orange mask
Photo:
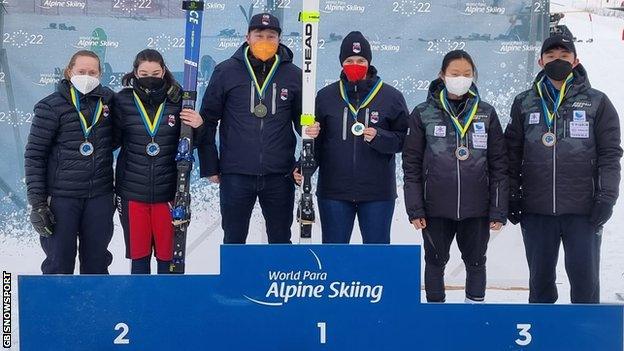
[[[247,44],[215,68],[204,95],[201,115],[205,140],[199,146],[201,176],[217,174],[287,174],[295,162],[296,135],[301,118],[301,70],[293,53],[280,45],[281,63],[263,103],[268,115],[258,118],[259,103],[244,62]],[[258,69],[256,62],[254,69]],[[267,64],[267,70],[271,68]],[[219,152],[216,130],[219,125]]]

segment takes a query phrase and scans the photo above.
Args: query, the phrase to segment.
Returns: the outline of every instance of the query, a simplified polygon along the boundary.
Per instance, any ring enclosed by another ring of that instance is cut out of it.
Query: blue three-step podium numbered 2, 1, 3
[[[20,276],[21,350],[624,350],[624,307],[421,304],[420,247],[222,246],[221,274]]]

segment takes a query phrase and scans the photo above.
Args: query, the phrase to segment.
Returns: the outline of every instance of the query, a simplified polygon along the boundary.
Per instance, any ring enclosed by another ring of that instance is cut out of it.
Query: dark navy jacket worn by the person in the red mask
[[[353,106],[366,98],[379,77],[370,67],[366,80],[341,80]],[[397,197],[395,154],[403,147],[409,111],[403,95],[383,83],[376,98],[358,113],[358,121],[377,129],[369,143],[354,136],[353,115],[340,95],[339,82],[319,91],[316,117],[321,132],[315,140],[319,163],[317,196],[346,201],[385,201]]]

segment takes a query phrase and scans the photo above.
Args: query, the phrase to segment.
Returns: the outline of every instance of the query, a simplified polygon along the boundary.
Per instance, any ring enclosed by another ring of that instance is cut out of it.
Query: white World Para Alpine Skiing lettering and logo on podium
[[[318,270],[269,271],[269,287],[262,298],[243,295],[247,300],[262,306],[281,307],[299,299],[356,299],[364,303],[376,304],[383,298],[383,285],[367,284],[358,279],[329,279],[330,274],[323,270],[319,256],[309,249],[316,260]]]

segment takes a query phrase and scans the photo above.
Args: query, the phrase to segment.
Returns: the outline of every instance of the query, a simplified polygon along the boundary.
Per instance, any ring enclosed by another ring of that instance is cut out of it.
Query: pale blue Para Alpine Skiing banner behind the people
[[[100,56],[102,82],[116,91],[144,48],[162,52],[179,79],[183,11],[178,0],[2,0],[0,6],[0,239],[35,237],[23,172],[33,105],[54,91],[79,49]],[[280,18],[282,42],[300,65],[299,1],[206,1],[205,8],[200,97],[215,65],[244,42],[247,22],[258,12]],[[442,56],[464,49],[476,60],[482,98],[497,108],[505,125],[513,97],[538,69],[536,50],[548,32],[548,8],[548,0],[321,0],[319,88],[338,78],[340,43],[351,30],[369,38],[372,63],[385,82],[403,92],[410,109],[424,101]],[[217,191],[205,184],[194,185],[195,215],[218,208]],[[404,210],[397,207],[395,216],[405,216]]]

